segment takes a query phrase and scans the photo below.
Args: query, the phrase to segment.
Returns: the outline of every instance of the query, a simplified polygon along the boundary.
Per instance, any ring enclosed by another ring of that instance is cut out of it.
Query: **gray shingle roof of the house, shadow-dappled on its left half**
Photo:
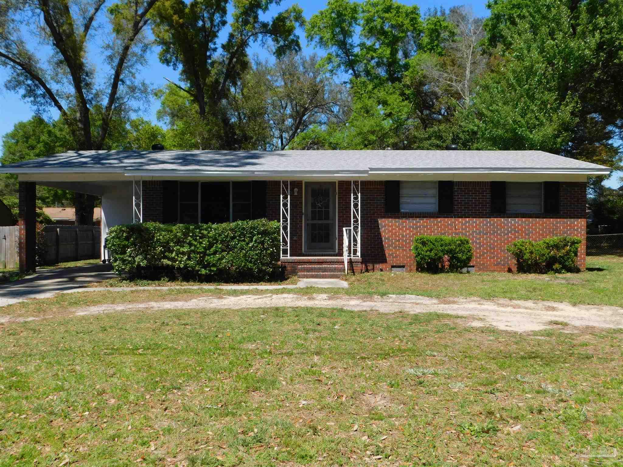
[[[530,171],[607,167],[543,151],[70,151],[2,166],[15,172],[225,171],[368,172],[391,170]],[[0,170],[1,171],[1,170]]]

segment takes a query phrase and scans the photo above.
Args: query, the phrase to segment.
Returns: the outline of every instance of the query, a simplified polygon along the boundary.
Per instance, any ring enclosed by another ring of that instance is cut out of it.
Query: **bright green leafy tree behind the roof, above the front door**
[[[308,21],[306,35],[328,52],[320,65],[349,75],[353,111],[348,125],[326,130],[338,131],[340,137],[323,136],[322,129],[314,128],[292,147],[410,149],[426,139],[434,147],[445,145],[448,136],[435,127],[445,123],[450,111],[423,72],[422,54],[441,54],[453,34],[444,17],[423,21],[417,6],[395,0],[328,1]],[[435,136],[425,136],[430,131]]]

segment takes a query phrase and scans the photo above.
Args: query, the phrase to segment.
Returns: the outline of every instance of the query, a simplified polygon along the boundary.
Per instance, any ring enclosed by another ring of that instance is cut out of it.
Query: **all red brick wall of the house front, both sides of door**
[[[294,189],[297,189],[297,195]],[[341,255],[342,229],[350,227],[351,182],[338,182],[338,252]],[[280,182],[267,184],[267,217],[280,219]],[[506,245],[519,238],[576,235],[586,238],[586,183],[561,182],[560,214],[490,214],[490,182],[455,182],[454,214],[430,212],[385,212],[383,181],[361,182],[361,245],[364,270],[404,265],[414,269],[411,253],[413,237],[464,235],[474,248],[472,264],[477,271],[515,269]],[[161,182],[143,182],[143,219],[162,219]],[[303,253],[303,182],[290,182],[290,256]],[[327,255],[328,256],[328,255]],[[586,243],[580,248],[578,265],[586,265]]]

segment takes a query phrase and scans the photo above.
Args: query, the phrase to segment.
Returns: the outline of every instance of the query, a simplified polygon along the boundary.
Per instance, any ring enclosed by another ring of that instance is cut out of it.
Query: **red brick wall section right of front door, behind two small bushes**
[[[411,242],[416,235],[462,235],[474,249],[477,271],[515,270],[506,245],[520,238],[541,240],[559,235],[586,239],[586,183],[562,182],[560,214],[490,214],[489,182],[455,182],[454,214],[385,214],[384,182],[363,183],[363,267],[415,267]],[[520,217],[521,216],[521,217]],[[586,243],[578,266],[586,267]]]

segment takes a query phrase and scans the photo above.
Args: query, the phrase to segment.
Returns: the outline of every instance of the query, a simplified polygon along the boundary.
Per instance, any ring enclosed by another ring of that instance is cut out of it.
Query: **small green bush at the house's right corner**
[[[577,272],[576,258],[582,243],[579,237],[545,238],[540,242],[516,240],[506,251],[517,260],[517,272]]]

